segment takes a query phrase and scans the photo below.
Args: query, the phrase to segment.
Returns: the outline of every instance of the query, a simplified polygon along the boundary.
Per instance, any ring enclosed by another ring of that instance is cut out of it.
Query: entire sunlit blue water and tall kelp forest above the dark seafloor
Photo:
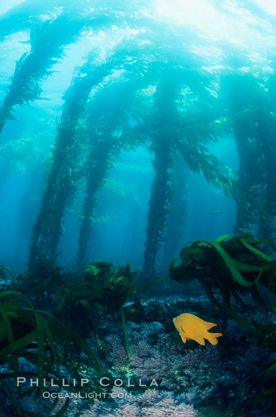
[[[166,2],[4,6],[2,263],[150,276],[190,238],[275,239],[271,11],[209,0],[211,27]]]

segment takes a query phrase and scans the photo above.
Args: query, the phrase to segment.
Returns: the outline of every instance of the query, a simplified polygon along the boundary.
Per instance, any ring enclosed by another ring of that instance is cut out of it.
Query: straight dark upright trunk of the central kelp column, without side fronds
[[[169,93],[168,102],[166,93]],[[148,224],[146,227],[147,237],[143,254],[143,269],[149,273],[154,271],[157,252],[164,241],[164,231],[167,225],[167,210],[171,195],[168,169],[174,163],[173,150],[177,136],[177,130],[173,126],[176,117],[174,106],[176,95],[177,85],[161,82],[157,87],[152,109],[153,123],[150,122],[150,129],[153,132],[149,151],[154,156],[152,159],[154,178],[151,184]],[[169,117],[169,115],[173,116],[172,121],[169,120],[172,126],[166,126],[162,123],[162,119]]]

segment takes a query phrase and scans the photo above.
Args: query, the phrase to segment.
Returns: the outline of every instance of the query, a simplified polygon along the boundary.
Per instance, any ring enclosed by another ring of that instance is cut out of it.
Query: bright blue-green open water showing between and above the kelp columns
[[[41,20],[52,21],[58,13],[61,13],[63,6],[65,7],[62,2],[55,4],[54,1],[48,3],[23,1],[16,4],[16,8],[12,9],[11,2],[1,3],[2,22],[7,16],[11,26],[9,33],[9,30],[2,25],[0,51],[2,99],[9,88],[16,61],[24,52],[30,52],[30,44],[25,43],[29,39],[30,30],[34,30]],[[89,7],[92,8],[94,4],[89,1],[78,5],[69,2],[65,9],[69,9],[70,5],[75,7],[74,13],[85,14],[89,13]],[[199,72],[202,71],[201,63],[209,68],[210,74],[206,79],[207,83],[213,82],[214,88],[214,92],[210,91],[210,103],[207,103],[210,107],[212,99],[220,92],[220,72],[224,73],[227,68],[237,72],[242,69],[253,76],[258,74],[258,71],[263,71],[264,79],[271,76],[274,71],[272,59],[275,45],[273,28],[275,10],[272,2],[264,4],[245,1],[241,4],[235,1],[225,3],[199,1],[188,4],[163,1],[144,5],[107,2],[106,6],[95,3],[95,10],[97,7],[101,9],[97,13],[102,14],[103,17],[112,15],[113,12],[110,10],[115,10],[116,7],[120,9],[122,16],[121,18],[115,16],[113,24],[109,26],[104,25],[101,28],[99,23],[95,31],[92,27],[92,30],[86,28],[78,33],[74,41],[66,45],[65,56],[53,65],[54,73],[50,77],[41,77],[38,80],[39,86],[43,89],[42,96],[49,101],[34,101],[23,107],[15,106],[19,123],[8,121],[1,133],[5,149],[8,148],[9,143],[12,143],[13,147],[22,146],[22,149],[12,157],[11,152],[1,148],[1,261],[15,266],[18,270],[28,258],[29,236],[40,209],[50,164],[50,152],[56,135],[56,118],[62,111],[62,97],[77,72],[75,68],[85,62],[89,51],[92,50],[96,59],[100,60],[102,55],[110,53],[113,48],[115,50],[116,43],[130,36],[128,48],[131,50],[133,45],[135,50],[137,42],[140,42],[141,33],[149,31],[151,51],[158,52],[166,43],[166,47],[170,48],[171,55],[167,57],[161,55],[160,58],[155,58],[157,62],[158,59],[164,58],[168,65],[173,66],[175,59],[176,66],[191,65],[192,68],[193,64],[190,60],[191,57],[195,57],[199,62]],[[145,23],[139,24],[132,20],[131,14],[135,10],[141,16],[149,16]],[[32,18],[30,19],[29,16]],[[22,21],[24,24],[19,24]],[[151,33],[156,30],[156,25],[163,36]],[[166,39],[168,28],[169,39]],[[188,58],[185,56],[186,49],[183,48],[181,54],[182,43],[188,45]],[[144,53],[147,53],[146,41]],[[229,57],[234,60],[235,56],[238,57],[238,65],[234,64],[230,67]],[[169,59],[172,62],[169,62]],[[135,67],[136,63],[132,65]],[[211,68],[214,71],[213,75]],[[132,68],[130,67],[129,70],[131,71]],[[120,82],[119,76],[118,82]],[[158,78],[156,82],[159,82]],[[154,84],[154,79],[151,84]],[[184,85],[185,70],[182,86]],[[186,105],[189,105],[189,97],[194,99],[192,95],[188,95],[185,98]],[[116,100],[121,99],[111,97],[111,100],[116,105]],[[207,102],[208,97],[205,97],[204,101]],[[221,105],[227,105],[227,102]],[[217,143],[210,144],[208,149],[237,172],[239,156],[234,135],[230,130],[222,133],[224,137],[218,135]],[[198,177],[191,173],[184,162],[182,169],[187,188],[185,225],[181,232],[183,241],[213,239],[221,233],[231,234],[236,209],[232,199],[225,197],[223,191],[212,183],[207,183],[202,175]],[[106,218],[98,220],[94,227],[87,260],[92,257],[107,258],[118,263],[130,261],[135,267],[139,267],[142,263],[146,238],[148,201],[153,178],[151,154],[147,152],[146,146],[138,147],[132,152],[122,152],[108,172],[107,178],[107,183],[98,192],[95,209],[97,216],[106,216]],[[74,266],[74,256],[77,251],[78,215],[83,197],[81,191],[78,190],[74,204],[68,208],[63,220],[65,231],[59,263],[66,267]],[[222,212],[218,215],[210,215],[212,210]],[[161,262],[161,253],[159,258]]]

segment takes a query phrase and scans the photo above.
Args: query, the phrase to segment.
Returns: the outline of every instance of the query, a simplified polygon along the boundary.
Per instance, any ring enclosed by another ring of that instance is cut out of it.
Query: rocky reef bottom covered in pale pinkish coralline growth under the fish
[[[237,313],[245,316],[239,306],[236,309]],[[89,323],[85,317],[78,317],[74,323],[75,330],[97,353],[103,369],[100,376],[103,378],[103,390],[96,398],[91,398],[93,392],[87,388],[90,398],[77,393],[70,397],[71,393],[63,389],[60,398],[55,399],[53,387],[46,387],[48,398],[40,396],[35,399],[31,395],[20,398],[22,392],[17,392],[14,380],[8,382],[9,391],[18,398],[16,403],[26,416],[276,416],[275,404],[260,401],[262,390],[268,390],[272,381],[268,377],[265,385],[259,386],[260,375],[252,376],[262,365],[275,361],[275,354],[257,347],[252,335],[241,330],[232,320],[229,320],[226,335],[219,339],[216,346],[208,342],[200,346],[192,340],[183,343],[172,321],[181,313],[192,313],[206,321],[213,320],[204,295],[154,297],[141,301],[138,310],[127,312],[130,359],[125,353],[119,319],[99,313],[102,340],[102,350],[99,351]],[[257,314],[254,319],[258,319]],[[259,321],[261,319],[259,317]],[[220,318],[217,324],[221,327]],[[74,352],[71,352],[71,360],[73,357]],[[86,366],[85,357],[81,359],[83,378],[89,380],[90,369]],[[20,360],[20,366],[26,374],[32,371],[24,359]],[[2,367],[0,371],[5,373],[8,369]],[[26,378],[26,383],[28,381]],[[27,388],[24,387],[23,392]],[[62,414],[65,402],[68,407]],[[1,389],[0,404],[1,417],[16,415]]]

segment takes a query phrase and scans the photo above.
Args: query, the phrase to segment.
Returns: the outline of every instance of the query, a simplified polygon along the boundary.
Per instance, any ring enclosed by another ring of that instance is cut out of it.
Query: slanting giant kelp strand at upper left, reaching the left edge
[[[63,47],[71,43],[83,27],[83,21],[69,14],[46,21],[30,33],[31,51],[23,53],[16,63],[12,83],[0,107],[0,132],[9,119],[15,119],[14,106],[41,99],[38,82],[51,74],[61,58]]]

